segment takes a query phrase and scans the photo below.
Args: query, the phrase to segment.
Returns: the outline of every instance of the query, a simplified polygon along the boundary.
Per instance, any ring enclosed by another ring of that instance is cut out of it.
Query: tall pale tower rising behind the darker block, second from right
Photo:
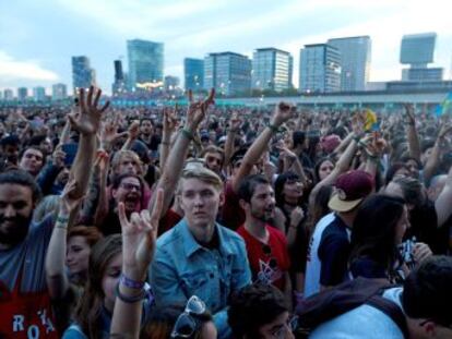
[[[370,71],[370,37],[329,39],[328,45],[341,53],[341,90],[365,90]]]

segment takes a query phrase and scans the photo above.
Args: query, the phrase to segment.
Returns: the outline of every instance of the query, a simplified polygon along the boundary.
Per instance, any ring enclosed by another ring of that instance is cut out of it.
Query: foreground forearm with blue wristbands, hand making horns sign
[[[162,205],[163,191],[158,190],[151,215],[142,210],[141,214],[133,213],[128,220],[124,205],[120,203],[118,206],[122,229],[122,273],[111,320],[111,337],[139,338],[144,281],[154,257]]]

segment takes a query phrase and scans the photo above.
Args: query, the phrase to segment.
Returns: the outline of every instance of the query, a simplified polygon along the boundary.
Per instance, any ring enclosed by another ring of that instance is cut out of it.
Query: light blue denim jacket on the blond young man
[[[227,301],[231,292],[251,283],[251,273],[240,235],[218,223],[216,231],[218,249],[205,249],[183,218],[157,240],[150,277],[157,304],[180,304],[198,295],[214,315],[218,338],[229,338]]]

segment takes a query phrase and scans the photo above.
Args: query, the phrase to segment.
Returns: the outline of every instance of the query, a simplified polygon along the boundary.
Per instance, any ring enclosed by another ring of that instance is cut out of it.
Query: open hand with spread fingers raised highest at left
[[[84,135],[94,135],[100,128],[102,113],[110,105],[109,101],[105,102],[102,108],[98,108],[98,101],[100,99],[102,90],[90,87],[86,100],[85,89],[82,88],[79,94],[80,110],[72,112],[68,116],[71,121],[71,125],[74,130]],[[94,100],[93,100],[94,96]]]

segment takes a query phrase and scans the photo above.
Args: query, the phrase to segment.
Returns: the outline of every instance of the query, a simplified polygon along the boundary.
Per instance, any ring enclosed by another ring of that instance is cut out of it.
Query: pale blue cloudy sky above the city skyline
[[[165,75],[183,77],[183,58],[257,48],[293,53],[329,38],[369,35],[370,81],[400,80],[404,34],[438,34],[435,63],[451,78],[452,20],[447,0],[14,0],[0,1],[0,89],[66,83],[71,57],[87,56],[111,92],[114,60],[127,71],[128,39],[165,44]],[[49,92],[50,93],[50,92]]]

